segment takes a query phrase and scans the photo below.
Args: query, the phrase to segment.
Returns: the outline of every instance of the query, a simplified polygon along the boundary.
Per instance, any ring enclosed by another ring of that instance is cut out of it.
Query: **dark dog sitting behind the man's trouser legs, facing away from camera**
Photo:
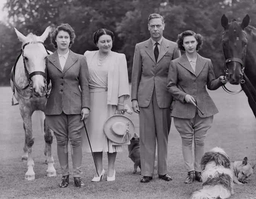
[[[140,174],[141,174],[141,163],[140,163],[140,138],[139,136],[134,133],[133,138],[131,139],[131,144],[128,145],[128,152],[129,157],[134,162],[134,170],[133,174],[137,172],[137,168],[139,166],[140,168]],[[157,160],[157,156],[155,156],[155,161]],[[157,169],[157,164],[155,163],[155,169]]]

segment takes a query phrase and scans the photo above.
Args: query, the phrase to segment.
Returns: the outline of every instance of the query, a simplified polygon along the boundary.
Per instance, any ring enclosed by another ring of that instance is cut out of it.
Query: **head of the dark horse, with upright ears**
[[[222,47],[230,84],[240,84],[242,81],[247,44],[244,28],[248,26],[249,22],[249,15],[246,15],[242,22],[233,19],[230,23],[225,15],[221,17],[221,25],[224,28]]]

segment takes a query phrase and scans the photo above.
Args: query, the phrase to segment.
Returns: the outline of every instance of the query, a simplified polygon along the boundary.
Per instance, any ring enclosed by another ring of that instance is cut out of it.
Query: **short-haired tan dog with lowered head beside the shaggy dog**
[[[231,171],[233,173],[233,181],[236,184],[248,183],[247,178],[253,174],[254,166],[247,162],[247,157],[243,161],[231,162]]]

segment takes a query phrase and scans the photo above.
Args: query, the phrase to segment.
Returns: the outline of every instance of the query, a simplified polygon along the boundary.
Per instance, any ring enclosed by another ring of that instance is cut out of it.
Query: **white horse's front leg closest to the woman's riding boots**
[[[47,126],[45,119],[44,119],[44,141],[45,141],[45,148],[44,148],[44,155],[46,155],[46,163],[48,164],[47,168],[47,177],[54,177],[56,176],[56,170],[54,168],[54,161],[52,157],[52,141],[53,136],[50,128]]]

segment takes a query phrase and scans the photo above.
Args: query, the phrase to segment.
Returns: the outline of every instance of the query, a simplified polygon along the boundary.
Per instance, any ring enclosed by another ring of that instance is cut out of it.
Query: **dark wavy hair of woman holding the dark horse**
[[[197,48],[196,48],[196,51],[198,51],[202,45],[203,45],[203,36],[201,36],[201,34],[196,34],[195,32],[193,32],[192,30],[186,30],[184,31],[183,33],[180,33],[178,35],[178,39],[177,39],[177,43],[178,43],[178,48],[181,50],[181,51],[185,51],[185,48],[183,46],[183,39],[184,37],[186,36],[194,36],[195,39],[197,40]]]

